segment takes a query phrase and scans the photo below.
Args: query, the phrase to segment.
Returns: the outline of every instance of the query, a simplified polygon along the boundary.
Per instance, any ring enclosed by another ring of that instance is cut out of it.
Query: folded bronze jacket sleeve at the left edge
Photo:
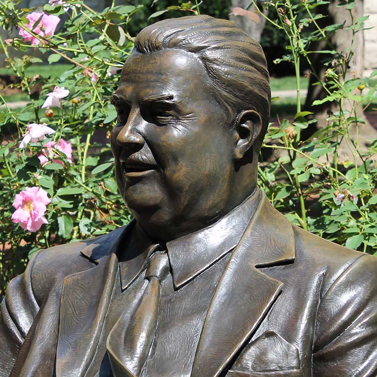
[[[8,377],[39,306],[31,287],[36,252],[25,272],[10,281],[0,309],[0,377]]]

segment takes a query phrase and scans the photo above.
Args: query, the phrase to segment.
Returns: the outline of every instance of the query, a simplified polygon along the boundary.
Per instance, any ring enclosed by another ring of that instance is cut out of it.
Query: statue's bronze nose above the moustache
[[[123,126],[122,130],[116,136],[116,143],[126,148],[130,153],[137,152],[144,145],[144,138],[138,130],[140,129],[141,123],[144,120],[140,115],[130,114],[127,123]]]

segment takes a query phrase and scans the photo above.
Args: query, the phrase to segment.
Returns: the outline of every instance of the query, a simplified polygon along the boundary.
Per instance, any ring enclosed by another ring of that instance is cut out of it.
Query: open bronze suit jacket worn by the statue
[[[98,376],[124,234],[41,250],[11,281],[0,377]],[[376,271],[375,257],[293,226],[263,194],[215,290],[191,377],[377,376]]]

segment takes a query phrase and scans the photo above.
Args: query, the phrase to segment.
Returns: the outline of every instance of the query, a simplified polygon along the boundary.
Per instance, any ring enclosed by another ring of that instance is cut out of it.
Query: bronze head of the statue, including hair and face
[[[145,27],[112,103],[118,187],[151,237],[210,225],[254,190],[269,73],[260,45],[232,22],[190,16]]]

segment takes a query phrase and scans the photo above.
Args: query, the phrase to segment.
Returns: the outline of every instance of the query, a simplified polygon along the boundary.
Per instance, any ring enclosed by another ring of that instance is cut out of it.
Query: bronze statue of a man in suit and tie
[[[233,23],[144,28],[113,104],[135,219],[39,251],[1,306],[0,377],[377,376],[377,260],[256,187],[261,47]]]

